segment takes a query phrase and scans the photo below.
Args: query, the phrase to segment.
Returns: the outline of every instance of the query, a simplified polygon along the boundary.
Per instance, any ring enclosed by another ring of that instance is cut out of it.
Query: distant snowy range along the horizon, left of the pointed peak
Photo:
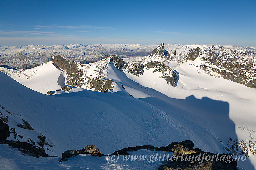
[[[61,55],[69,61],[87,64],[99,61],[108,55],[146,56],[155,46],[140,44],[2,46],[0,47],[0,64],[15,69],[28,69],[49,61],[53,54]]]

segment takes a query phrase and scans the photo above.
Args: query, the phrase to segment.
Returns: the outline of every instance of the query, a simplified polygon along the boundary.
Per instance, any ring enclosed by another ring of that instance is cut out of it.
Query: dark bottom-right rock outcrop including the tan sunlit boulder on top
[[[180,142],[181,143],[181,142]],[[174,143],[173,143],[174,144]],[[186,148],[186,145],[188,148]],[[230,155],[213,154],[204,152],[201,149],[193,149],[192,141],[183,141],[183,145],[176,144],[173,146],[172,160],[166,160],[159,170],[237,170],[237,161]]]

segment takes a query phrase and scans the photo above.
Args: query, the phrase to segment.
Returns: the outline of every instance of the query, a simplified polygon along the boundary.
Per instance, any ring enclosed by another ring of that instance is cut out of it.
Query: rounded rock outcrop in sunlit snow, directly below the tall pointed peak
[[[171,67],[167,66],[164,63],[160,63],[158,61],[150,61],[147,64],[145,64],[145,69],[155,68],[152,72],[162,72],[163,76],[160,78],[164,78],[168,84],[172,85],[173,87],[176,87],[177,80],[179,76],[174,72]]]

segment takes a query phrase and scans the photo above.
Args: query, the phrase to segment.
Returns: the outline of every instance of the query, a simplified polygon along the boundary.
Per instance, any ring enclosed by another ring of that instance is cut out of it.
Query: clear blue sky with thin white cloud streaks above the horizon
[[[0,46],[256,46],[256,1],[0,1]]]

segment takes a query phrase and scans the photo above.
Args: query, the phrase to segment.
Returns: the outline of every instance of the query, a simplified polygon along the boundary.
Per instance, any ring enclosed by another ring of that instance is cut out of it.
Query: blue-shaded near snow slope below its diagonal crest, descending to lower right
[[[123,92],[100,93],[77,89],[75,93],[45,95],[3,73],[0,75],[4,80],[1,87],[5,89],[1,93],[1,106],[11,113],[20,114],[34,131],[46,136],[54,145],[50,148],[53,153],[47,151],[51,155],[60,156],[68,149],[92,144],[108,154],[128,146],[164,146],[185,139],[191,139],[197,147],[212,152],[221,150],[223,146],[200,125],[195,125],[195,128],[211,139],[208,143],[203,142],[204,137],[200,134],[193,134],[170,115]],[[8,117],[10,120],[20,118]],[[14,123],[8,125],[18,128]],[[13,139],[12,136],[9,138]]]

